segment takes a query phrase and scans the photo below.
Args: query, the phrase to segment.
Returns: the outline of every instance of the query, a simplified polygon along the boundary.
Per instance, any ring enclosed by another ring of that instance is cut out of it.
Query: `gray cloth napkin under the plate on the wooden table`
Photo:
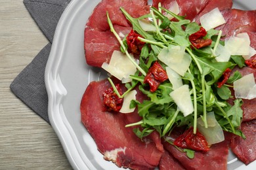
[[[33,61],[16,76],[11,83],[11,91],[30,109],[49,124],[48,97],[45,88],[45,66],[51,51],[54,31],[62,12],[71,0],[24,0],[26,9],[37,23],[49,44],[43,48]]]

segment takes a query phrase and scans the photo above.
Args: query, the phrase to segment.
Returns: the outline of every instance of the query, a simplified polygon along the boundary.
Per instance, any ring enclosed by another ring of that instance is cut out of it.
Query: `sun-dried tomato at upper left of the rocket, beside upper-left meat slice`
[[[146,44],[145,42],[140,41],[138,37],[142,36],[138,33],[135,33],[133,29],[131,29],[131,32],[126,37],[129,50],[131,50],[131,52],[135,54],[140,54],[142,47],[144,46],[144,44]]]

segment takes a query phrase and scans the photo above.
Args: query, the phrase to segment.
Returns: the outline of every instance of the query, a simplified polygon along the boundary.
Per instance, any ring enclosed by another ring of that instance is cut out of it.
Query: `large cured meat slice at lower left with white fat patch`
[[[133,133],[133,127],[125,127],[137,118],[137,112],[102,111],[102,92],[110,87],[108,80],[89,84],[81,100],[81,121],[106,160],[114,161],[118,167],[154,169],[163,153],[159,135],[146,137],[144,142]]]

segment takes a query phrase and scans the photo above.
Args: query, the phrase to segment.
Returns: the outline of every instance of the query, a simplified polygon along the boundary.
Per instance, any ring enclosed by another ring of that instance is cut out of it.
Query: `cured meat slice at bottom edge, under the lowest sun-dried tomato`
[[[181,132],[181,129],[174,129],[171,138],[175,139],[177,136],[179,136],[179,134],[181,134]],[[176,158],[185,169],[226,170],[228,160],[228,145],[230,143],[228,140],[211,145],[210,150],[207,152],[195,152],[193,159],[188,158],[186,153],[181,152],[164,139],[162,140],[162,143],[163,148],[168,150],[169,154]]]

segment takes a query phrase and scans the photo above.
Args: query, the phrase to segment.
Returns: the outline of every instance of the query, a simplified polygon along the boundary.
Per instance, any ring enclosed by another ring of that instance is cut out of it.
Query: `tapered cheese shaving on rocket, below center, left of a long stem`
[[[170,95],[184,116],[188,116],[194,112],[194,106],[190,96],[188,84],[173,90]]]

